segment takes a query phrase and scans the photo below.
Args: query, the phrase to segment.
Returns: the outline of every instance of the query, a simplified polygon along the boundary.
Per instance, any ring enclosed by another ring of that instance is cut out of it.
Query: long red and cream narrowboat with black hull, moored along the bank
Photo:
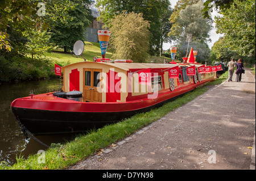
[[[100,128],[161,106],[216,78],[213,72],[199,73],[201,64],[194,65],[78,62],[61,68],[63,90],[15,99],[11,111],[20,127],[35,135]],[[192,66],[195,75],[187,75]],[[178,70],[176,78],[170,77],[172,69]]]

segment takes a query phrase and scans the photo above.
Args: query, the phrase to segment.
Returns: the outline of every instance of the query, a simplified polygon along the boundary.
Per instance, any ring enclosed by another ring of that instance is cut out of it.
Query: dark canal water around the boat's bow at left
[[[39,150],[47,149],[46,146],[32,138],[26,140],[10,110],[11,102],[31,93],[42,94],[60,91],[62,86],[63,80],[60,78],[0,85],[0,163],[5,161],[13,165],[16,162],[16,155],[18,157],[23,155],[26,158],[30,154],[38,153]],[[36,136],[48,146],[51,146],[52,143],[69,141],[73,137],[72,134]]]

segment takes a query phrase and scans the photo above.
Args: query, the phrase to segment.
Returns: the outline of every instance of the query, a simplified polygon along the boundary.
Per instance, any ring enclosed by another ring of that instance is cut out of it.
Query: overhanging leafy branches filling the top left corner
[[[43,3],[44,6],[38,6]],[[44,14],[39,14],[41,9],[46,9]],[[40,30],[56,19],[65,23],[72,19],[67,12],[73,8],[73,3],[68,0],[5,0],[0,1],[0,49],[10,51],[12,42],[9,39],[8,27],[13,23],[22,22],[29,27]],[[17,33],[16,33],[17,34]]]

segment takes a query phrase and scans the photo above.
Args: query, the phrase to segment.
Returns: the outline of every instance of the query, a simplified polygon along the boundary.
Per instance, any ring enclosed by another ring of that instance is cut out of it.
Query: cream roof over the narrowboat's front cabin
[[[80,66],[80,64],[104,64],[106,66],[112,66],[114,68],[119,68],[125,71],[129,71],[130,69],[148,69],[148,68],[173,68],[175,66],[178,66],[178,64],[146,64],[146,63],[121,63],[121,62],[92,62],[92,61],[87,61],[87,62],[77,62],[75,63],[77,66]],[[71,65],[75,64],[70,64],[63,66],[63,68],[66,68]]]

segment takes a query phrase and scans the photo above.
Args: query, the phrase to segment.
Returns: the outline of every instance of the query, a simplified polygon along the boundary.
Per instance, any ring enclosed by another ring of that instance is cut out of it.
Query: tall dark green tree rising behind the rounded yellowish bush
[[[141,13],[144,20],[150,23],[150,51],[151,55],[159,54],[161,47],[161,38],[164,36],[162,29],[165,23],[162,22],[164,15],[170,11],[170,2],[168,0],[97,0],[96,7],[100,10],[103,22],[110,26],[115,15],[122,14],[125,11]],[[170,30],[170,29],[169,29]]]

